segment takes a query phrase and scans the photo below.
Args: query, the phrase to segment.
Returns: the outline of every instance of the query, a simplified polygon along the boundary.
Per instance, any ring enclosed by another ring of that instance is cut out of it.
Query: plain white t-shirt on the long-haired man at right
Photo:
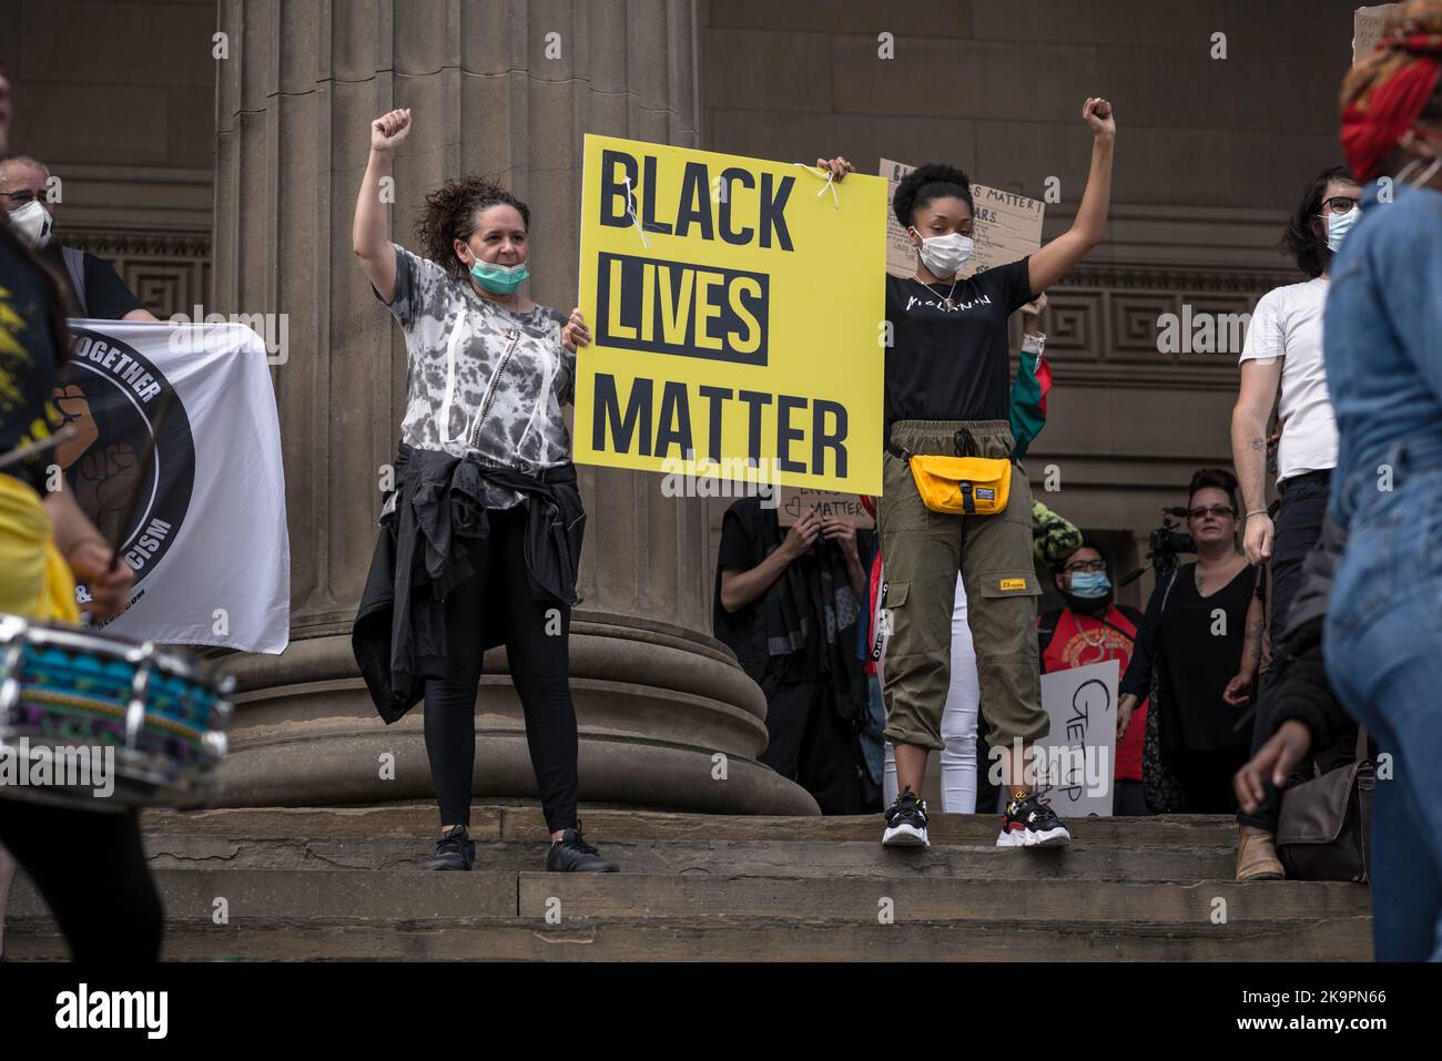
[[[1288,284],[1257,301],[1240,360],[1282,358],[1276,481],[1337,467],[1337,419],[1322,362],[1327,278]]]

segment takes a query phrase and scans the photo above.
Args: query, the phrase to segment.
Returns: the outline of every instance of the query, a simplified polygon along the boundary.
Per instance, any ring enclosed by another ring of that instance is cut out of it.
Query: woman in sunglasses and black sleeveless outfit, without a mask
[[[1156,580],[1119,688],[1118,737],[1151,693],[1159,767],[1175,780],[1184,804],[1152,810],[1234,814],[1231,776],[1247,761],[1252,740],[1250,729],[1237,732],[1236,724],[1262,654],[1262,608],[1253,607],[1259,569],[1237,546],[1236,476],[1203,469],[1188,493],[1187,529],[1197,559]]]

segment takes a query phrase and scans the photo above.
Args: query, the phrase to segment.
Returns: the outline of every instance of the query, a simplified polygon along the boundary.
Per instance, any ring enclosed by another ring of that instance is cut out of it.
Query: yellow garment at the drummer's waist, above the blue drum
[[[0,611],[78,623],[75,577],[55,548],[50,518],[26,483],[0,474]]]

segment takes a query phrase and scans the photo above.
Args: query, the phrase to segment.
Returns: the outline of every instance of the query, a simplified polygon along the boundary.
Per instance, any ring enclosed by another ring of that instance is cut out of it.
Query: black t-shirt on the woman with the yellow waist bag
[[[927,287],[887,275],[887,431],[897,419],[1007,419],[1007,319],[1031,301],[1028,259]],[[952,306],[945,307],[947,291]]]

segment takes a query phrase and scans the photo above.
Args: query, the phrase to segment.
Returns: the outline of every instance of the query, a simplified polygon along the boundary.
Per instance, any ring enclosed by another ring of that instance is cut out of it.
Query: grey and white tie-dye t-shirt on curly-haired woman
[[[548,306],[512,313],[399,244],[386,308],[405,333],[401,441],[531,473],[571,460],[561,407],[574,396],[575,355],[561,345],[561,313]],[[522,500],[513,490],[485,489],[486,507]]]

